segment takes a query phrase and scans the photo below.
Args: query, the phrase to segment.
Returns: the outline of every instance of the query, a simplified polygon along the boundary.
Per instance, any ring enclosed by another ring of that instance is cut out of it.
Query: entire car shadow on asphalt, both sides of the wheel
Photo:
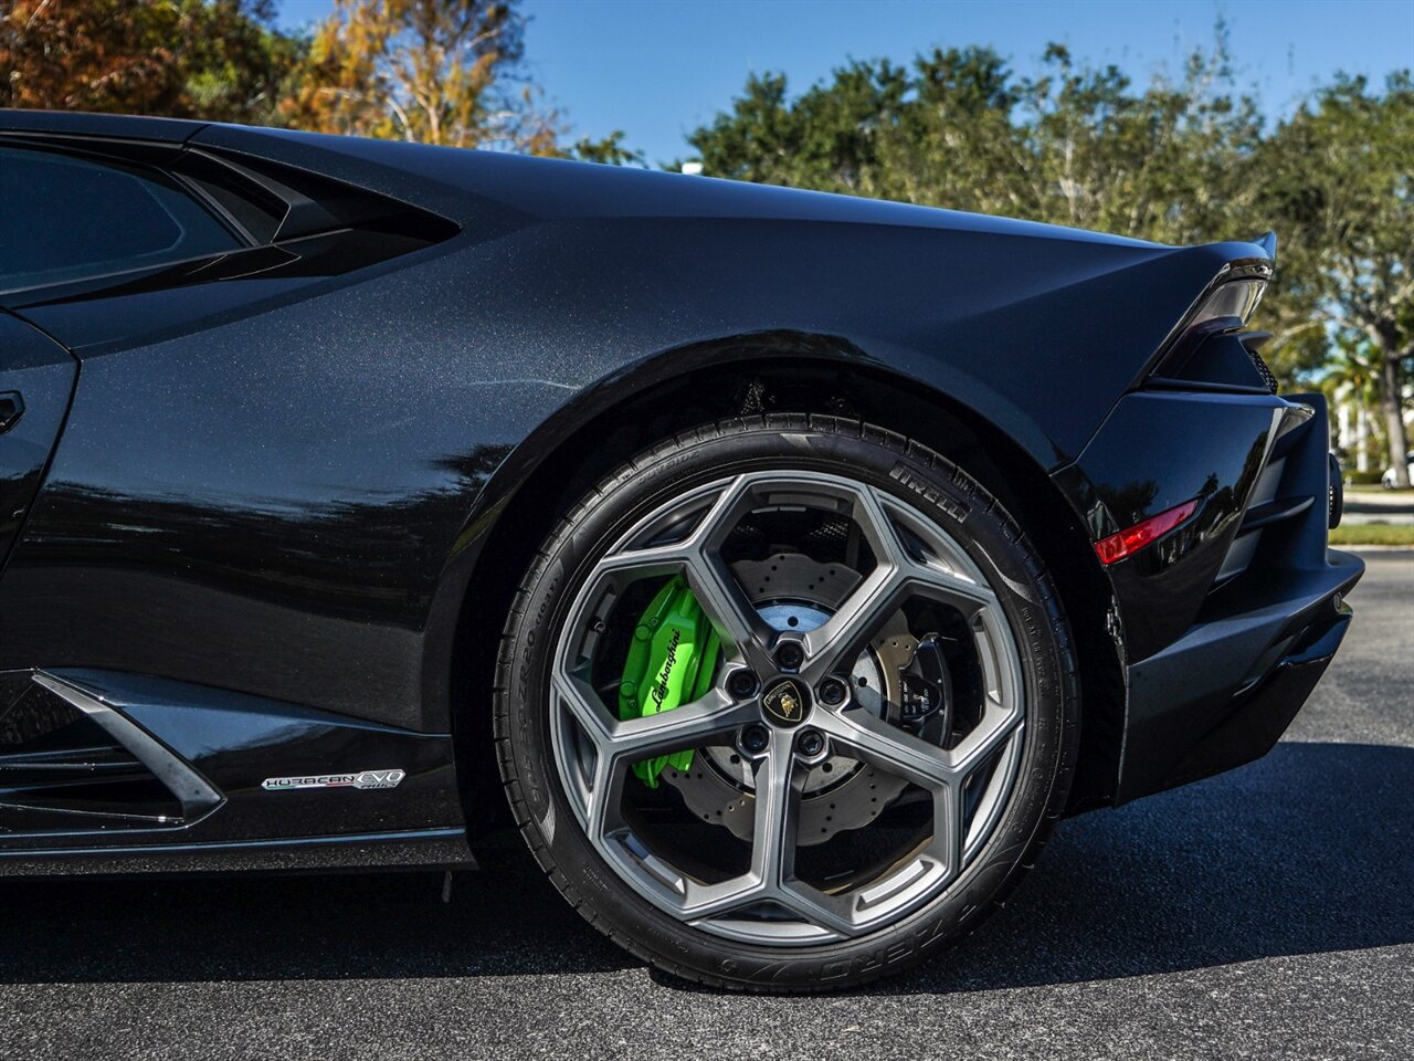
[[[878,993],[1096,980],[1414,941],[1414,748],[1280,744],[1266,760],[1062,825],[1005,911]],[[0,983],[607,972],[520,847],[486,869],[0,883]],[[665,980],[665,983],[669,983]]]

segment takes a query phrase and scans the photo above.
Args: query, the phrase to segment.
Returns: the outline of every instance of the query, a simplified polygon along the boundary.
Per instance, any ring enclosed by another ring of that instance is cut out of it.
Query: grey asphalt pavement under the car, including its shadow
[[[1414,1057],[1414,552],[1287,740],[1066,822],[899,980],[742,999],[649,973],[515,837],[431,874],[0,886],[0,1057]]]

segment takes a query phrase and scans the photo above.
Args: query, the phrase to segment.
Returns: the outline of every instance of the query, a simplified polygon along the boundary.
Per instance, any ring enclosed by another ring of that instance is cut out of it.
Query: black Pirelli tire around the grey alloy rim
[[[568,601],[632,522],[724,471],[847,474],[945,526],[998,593],[1022,659],[1025,738],[1010,802],[986,846],[932,903],[871,935],[819,946],[728,941],[659,911],[584,836],[550,748],[546,682]],[[506,620],[495,738],[515,819],[554,886],[595,928],[658,968],[717,987],[819,992],[906,969],[970,934],[1035,863],[1062,813],[1080,738],[1070,631],[1038,552],[966,471],[881,427],[813,414],[706,424],[639,454],[591,489],[542,546]]]

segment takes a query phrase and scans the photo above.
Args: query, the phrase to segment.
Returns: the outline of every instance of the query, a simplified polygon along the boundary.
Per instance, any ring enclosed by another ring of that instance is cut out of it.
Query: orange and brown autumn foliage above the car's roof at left
[[[642,164],[624,133],[566,143],[525,64],[520,0],[0,0],[0,105],[107,110]]]

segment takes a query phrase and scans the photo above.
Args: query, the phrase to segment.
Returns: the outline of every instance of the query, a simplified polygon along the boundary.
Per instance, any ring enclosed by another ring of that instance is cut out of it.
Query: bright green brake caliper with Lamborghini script
[[[687,580],[677,576],[658,591],[633,630],[619,685],[619,719],[670,712],[704,696],[711,689],[720,651],[717,632],[687,589]],[[641,760],[633,772],[649,788],[658,788],[658,777],[669,764],[673,770],[689,770],[691,748]]]

